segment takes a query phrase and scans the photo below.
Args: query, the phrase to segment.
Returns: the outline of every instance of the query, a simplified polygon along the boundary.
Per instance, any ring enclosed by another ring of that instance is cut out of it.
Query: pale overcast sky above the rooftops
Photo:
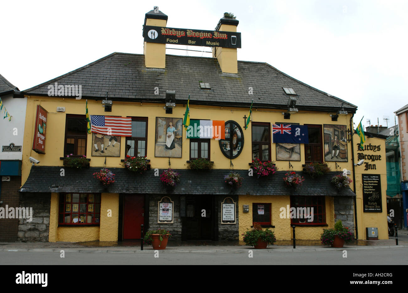
[[[234,13],[238,60],[267,62],[357,105],[356,124],[364,115],[364,126],[385,126],[388,115],[394,125],[408,104],[408,1],[396,0],[3,1],[0,74],[24,90],[113,52],[141,54],[144,14],[155,5],[167,27],[212,30]]]

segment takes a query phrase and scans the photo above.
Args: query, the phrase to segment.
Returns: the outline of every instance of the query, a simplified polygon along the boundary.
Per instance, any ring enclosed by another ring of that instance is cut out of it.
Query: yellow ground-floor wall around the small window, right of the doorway
[[[301,227],[296,226],[296,239],[299,240],[319,240],[323,229],[334,228],[334,204],[333,197],[326,196],[326,223],[328,226]],[[252,226],[252,204],[254,202],[271,203],[271,220],[275,228],[270,228],[277,240],[290,240],[293,229],[290,226],[290,218],[280,218],[280,209],[290,206],[289,195],[239,195],[239,240],[242,240],[242,233]],[[242,205],[249,205],[249,213],[242,211]]]

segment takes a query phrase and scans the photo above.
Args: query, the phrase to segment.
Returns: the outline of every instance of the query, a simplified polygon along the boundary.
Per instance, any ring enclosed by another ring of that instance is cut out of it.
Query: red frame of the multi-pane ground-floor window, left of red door
[[[67,202],[66,195],[68,195],[68,194],[71,195],[71,201],[70,202]],[[73,202],[72,201],[73,200],[73,194],[79,194],[80,198],[81,198],[81,195],[86,194],[87,195],[86,196],[86,202],[81,202],[80,199],[79,199],[78,202]],[[91,195],[91,194],[93,194],[93,202],[89,201],[89,195]],[[97,195],[99,196],[99,202],[96,201],[96,196]],[[101,207],[101,202],[102,202],[101,196],[102,196],[101,193],[91,193],[91,192],[89,192],[89,193],[80,193],[80,192],[60,193],[60,199],[58,201],[58,226],[75,226],[75,227],[78,227],[78,226],[80,226],[80,227],[81,226],[100,226],[100,219],[101,219],[100,207]],[[68,211],[68,212],[66,211],[67,204],[71,204],[71,211]],[[78,212],[73,211],[73,204],[78,204]],[[86,204],[86,211],[85,212],[82,212],[82,213],[80,212],[80,204]],[[88,209],[89,209],[88,205],[89,204],[94,205],[92,212],[88,211]],[[99,204],[99,211],[95,210],[95,204]],[[62,206],[62,209],[61,209],[61,206]],[[80,217],[80,214],[85,214],[86,219],[87,219],[88,215],[93,215],[92,222],[91,223],[87,223],[87,222],[84,222],[84,223],[79,223],[79,222],[78,223],[72,223],[72,222],[64,223],[64,222],[60,222],[60,215],[63,215],[62,219],[64,221],[67,214],[69,214],[71,216],[71,221],[73,219],[72,218],[73,215],[78,215],[78,217]],[[95,222],[95,215],[96,214],[99,214],[98,222]]]

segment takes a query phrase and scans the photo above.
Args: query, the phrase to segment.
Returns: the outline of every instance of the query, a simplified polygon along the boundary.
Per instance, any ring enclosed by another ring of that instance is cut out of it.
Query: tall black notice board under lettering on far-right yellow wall
[[[361,174],[364,212],[382,212],[381,175]]]

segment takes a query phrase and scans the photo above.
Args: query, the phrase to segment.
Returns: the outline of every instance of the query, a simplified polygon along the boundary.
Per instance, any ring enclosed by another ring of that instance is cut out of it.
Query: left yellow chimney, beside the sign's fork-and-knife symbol
[[[166,27],[168,16],[155,7],[144,16],[144,27],[146,25],[154,27]],[[143,27],[143,35],[144,35]],[[147,68],[166,67],[166,44],[144,42],[143,45],[144,65]]]

